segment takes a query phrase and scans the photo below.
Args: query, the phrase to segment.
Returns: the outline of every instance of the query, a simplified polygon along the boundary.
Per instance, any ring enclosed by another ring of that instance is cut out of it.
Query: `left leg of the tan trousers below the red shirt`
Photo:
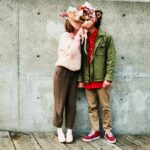
[[[85,90],[88,102],[88,114],[92,131],[99,131],[99,116],[96,90]]]

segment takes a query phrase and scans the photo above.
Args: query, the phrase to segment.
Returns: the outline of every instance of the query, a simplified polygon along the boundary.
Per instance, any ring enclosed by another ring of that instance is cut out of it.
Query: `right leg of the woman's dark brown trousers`
[[[68,96],[66,100],[66,128],[72,129],[76,115],[76,96],[77,96],[77,72],[72,72],[69,82]]]

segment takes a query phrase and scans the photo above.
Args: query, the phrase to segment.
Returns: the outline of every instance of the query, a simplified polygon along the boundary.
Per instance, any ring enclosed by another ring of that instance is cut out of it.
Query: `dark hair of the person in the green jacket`
[[[95,11],[95,15],[96,15],[96,22],[94,24],[94,27],[99,29],[100,25],[101,25],[101,21],[102,21],[102,15],[103,15],[103,12],[101,10],[96,10]]]

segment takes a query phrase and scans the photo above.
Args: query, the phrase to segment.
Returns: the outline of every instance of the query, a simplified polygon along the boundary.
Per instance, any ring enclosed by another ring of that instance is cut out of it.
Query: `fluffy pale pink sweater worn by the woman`
[[[56,66],[63,66],[69,70],[77,71],[81,67],[80,38],[73,39],[68,32],[60,37],[58,46],[58,60]]]

